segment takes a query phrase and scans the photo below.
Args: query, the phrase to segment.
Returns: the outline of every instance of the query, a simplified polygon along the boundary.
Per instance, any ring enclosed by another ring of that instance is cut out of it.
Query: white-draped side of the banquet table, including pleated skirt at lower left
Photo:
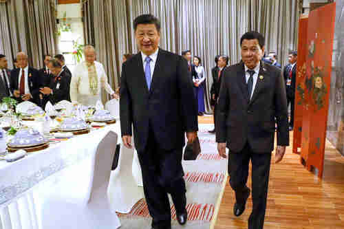
[[[39,228],[33,190],[59,171],[92,155],[109,131],[118,134],[120,143],[117,122],[68,140],[51,142],[47,149],[28,153],[21,160],[0,161],[0,228]]]

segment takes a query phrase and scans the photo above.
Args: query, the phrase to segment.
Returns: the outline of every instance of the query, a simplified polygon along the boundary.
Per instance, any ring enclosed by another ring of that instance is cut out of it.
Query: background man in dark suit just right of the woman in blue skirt
[[[211,85],[211,101],[214,105],[214,129],[208,131],[209,133],[215,133],[216,131],[217,100],[219,98],[219,89],[221,87],[222,76],[224,75],[224,68],[228,65],[228,60],[228,56],[219,56],[217,61],[217,69],[212,71],[213,85]]]

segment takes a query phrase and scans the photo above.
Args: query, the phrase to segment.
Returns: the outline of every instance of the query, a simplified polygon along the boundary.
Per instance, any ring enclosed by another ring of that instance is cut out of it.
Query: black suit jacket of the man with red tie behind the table
[[[11,90],[12,93],[14,90],[19,90],[19,73],[21,69],[13,69],[11,72]],[[36,105],[41,105],[40,99],[39,99],[39,89],[42,86],[41,82],[41,76],[39,74],[39,71],[37,69],[34,69],[33,67],[29,66],[28,70],[28,83],[29,83],[29,89],[30,94],[32,95],[32,99],[30,99],[31,102],[36,103]],[[21,98],[17,98],[19,102],[21,102]]]

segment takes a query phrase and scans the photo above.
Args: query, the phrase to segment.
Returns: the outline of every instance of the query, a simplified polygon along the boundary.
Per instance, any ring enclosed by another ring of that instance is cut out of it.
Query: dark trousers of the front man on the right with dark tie
[[[230,173],[230,186],[235,190],[238,204],[244,204],[248,192],[246,186],[248,179],[248,165],[252,163],[252,213],[248,218],[249,229],[264,228],[266,211],[266,197],[270,173],[271,152],[254,153],[246,143],[239,153],[230,152],[228,173]]]

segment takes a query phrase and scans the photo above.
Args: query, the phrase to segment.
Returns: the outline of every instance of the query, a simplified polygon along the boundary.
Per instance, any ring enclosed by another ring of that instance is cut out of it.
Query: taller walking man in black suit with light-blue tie
[[[171,194],[180,224],[186,223],[182,148],[197,136],[197,109],[188,65],[182,56],[161,50],[160,21],[143,14],[133,22],[141,50],[122,65],[120,125],[122,142],[135,146],[152,227],[171,228]]]

